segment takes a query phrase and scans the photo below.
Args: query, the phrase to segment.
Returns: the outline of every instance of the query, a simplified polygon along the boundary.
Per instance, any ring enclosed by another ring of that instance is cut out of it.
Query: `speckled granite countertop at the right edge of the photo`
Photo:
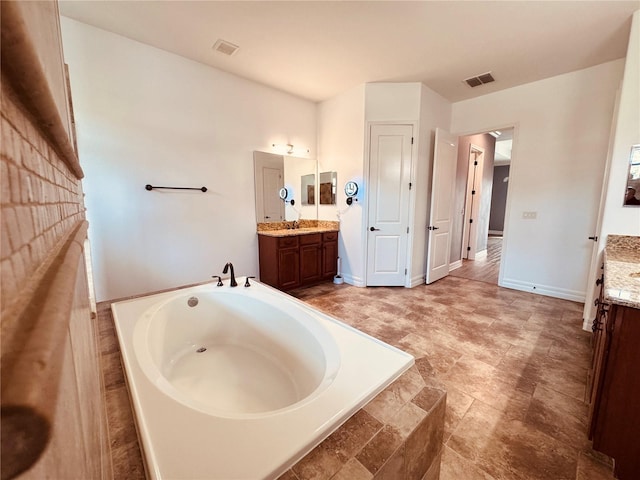
[[[640,308],[640,237],[608,236],[604,250],[604,299]]]

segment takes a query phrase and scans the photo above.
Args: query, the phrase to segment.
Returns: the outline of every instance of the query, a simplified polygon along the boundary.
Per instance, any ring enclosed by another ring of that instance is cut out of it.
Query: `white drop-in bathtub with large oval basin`
[[[413,357],[252,281],[114,303],[147,473],[272,479]]]

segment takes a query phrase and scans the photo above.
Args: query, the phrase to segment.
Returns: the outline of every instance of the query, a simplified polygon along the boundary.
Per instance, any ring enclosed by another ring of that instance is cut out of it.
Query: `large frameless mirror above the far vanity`
[[[301,202],[300,182],[302,176],[316,176],[315,159],[254,151],[253,162],[258,223],[317,220],[317,203],[303,205]],[[287,189],[286,203],[280,199],[281,188]],[[289,202],[290,200],[293,202]]]

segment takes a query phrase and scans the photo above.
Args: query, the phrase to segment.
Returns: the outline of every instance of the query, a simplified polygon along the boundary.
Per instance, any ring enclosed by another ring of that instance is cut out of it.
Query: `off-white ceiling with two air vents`
[[[313,101],[423,82],[455,102],[624,57],[635,1],[60,1],[62,15]],[[211,48],[222,38],[231,56]],[[496,82],[463,79],[491,71]]]

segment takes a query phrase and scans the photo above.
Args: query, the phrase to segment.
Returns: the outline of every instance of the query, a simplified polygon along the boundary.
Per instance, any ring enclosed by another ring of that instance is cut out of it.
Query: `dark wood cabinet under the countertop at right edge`
[[[621,480],[640,472],[640,310],[599,299],[588,390],[589,438]]]

